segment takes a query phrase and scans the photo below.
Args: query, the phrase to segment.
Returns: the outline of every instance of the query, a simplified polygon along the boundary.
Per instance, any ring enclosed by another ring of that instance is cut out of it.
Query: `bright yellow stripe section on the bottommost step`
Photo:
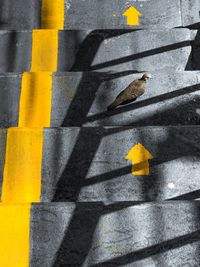
[[[31,205],[0,205],[0,266],[28,267]]]

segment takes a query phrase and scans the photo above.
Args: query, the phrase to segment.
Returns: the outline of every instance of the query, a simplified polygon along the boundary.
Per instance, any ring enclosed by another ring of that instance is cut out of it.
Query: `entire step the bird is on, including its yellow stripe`
[[[53,73],[49,88],[43,85],[46,73],[40,75],[41,81],[37,73],[28,74],[29,86],[27,74],[1,74],[0,127],[22,126],[24,117],[23,127],[199,125],[200,72],[151,74],[142,97],[109,112],[107,106],[143,73]],[[44,92],[47,89],[49,98]],[[36,105],[38,99],[40,105]],[[48,123],[41,119],[45,113]]]

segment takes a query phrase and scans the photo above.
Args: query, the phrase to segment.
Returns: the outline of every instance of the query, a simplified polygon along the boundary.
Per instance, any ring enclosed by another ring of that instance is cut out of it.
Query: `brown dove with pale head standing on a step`
[[[152,78],[151,74],[145,73],[142,78],[134,80],[116,97],[115,101],[108,106],[107,110],[113,110],[120,105],[135,101],[139,96],[144,94],[147,80],[150,78]]]

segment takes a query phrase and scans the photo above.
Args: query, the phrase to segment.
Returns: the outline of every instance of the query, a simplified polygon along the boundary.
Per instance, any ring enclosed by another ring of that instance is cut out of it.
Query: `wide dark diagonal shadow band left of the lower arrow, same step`
[[[56,185],[53,202],[78,200],[79,192],[102,137],[103,129],[80,129],[72,154]]]

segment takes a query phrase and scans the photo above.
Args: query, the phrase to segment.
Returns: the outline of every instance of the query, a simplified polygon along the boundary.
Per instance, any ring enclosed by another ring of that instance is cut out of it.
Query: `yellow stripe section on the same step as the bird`
[[[25,72],[22,76],[19,127],[50,127],[51,72]]]

